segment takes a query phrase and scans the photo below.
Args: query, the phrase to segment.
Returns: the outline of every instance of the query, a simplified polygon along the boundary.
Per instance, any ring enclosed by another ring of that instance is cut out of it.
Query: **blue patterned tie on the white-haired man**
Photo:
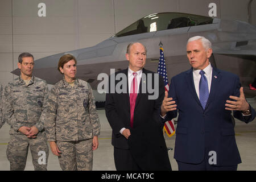
[[[199,99],[201,102],[201,105],[205,109],[205,106],[207,104],[207,100],[209,97],[209,89],[208,89],[208,82],[207,77],[205,77],[205,72],[203,70],[200,71],[200,82],[199,82]]]

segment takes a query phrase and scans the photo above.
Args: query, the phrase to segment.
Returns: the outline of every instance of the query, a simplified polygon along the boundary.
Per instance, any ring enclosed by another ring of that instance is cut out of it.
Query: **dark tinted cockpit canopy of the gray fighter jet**
[[[213,18],[185,13],[155,13],[139,19],[137,22],[119,31],[114,36],[127,36],[146,32],[168,30],[172,28],[190,27],[211,24]],[[113,36],[113,37],[114,37]]]

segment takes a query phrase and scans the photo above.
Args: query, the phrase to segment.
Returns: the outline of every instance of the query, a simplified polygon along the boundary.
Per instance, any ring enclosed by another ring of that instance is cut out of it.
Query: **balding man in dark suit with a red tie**
[[[164,98],[164,82],[157,73],[144,69],[146,47],[141,43],[130,43],[126,59],[129,68],[116,72],[114,76],[124,75],[122,86],[124,92],[117,92],[109,83],[106,94],[105,111],[112,127],[112,144],[114,162],[117,170],[170,170],[167,147],[163,138],[163,124],[159,121],[160,105]],[[148,79],[151,78],[151,79]],[[150,99],[153,93],[143,92],[152,81],[158,94]],[[126,88],[127,87],[127,88]],[[112,93],[111,90],[114,90]]]

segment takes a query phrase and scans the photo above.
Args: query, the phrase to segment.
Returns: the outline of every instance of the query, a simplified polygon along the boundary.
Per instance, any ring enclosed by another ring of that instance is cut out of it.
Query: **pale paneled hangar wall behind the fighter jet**
[[[18,55],[31,52],[35,59],[94,46],[145,15],[182,12],[208,16],[216,3],[217,18],[248,22],[250,0],[0,0],[0,82],[16,76]],[[46,16],[39,17],[39,3]],[[256,9],[256,1],[251,10]],[[256,12],[251,11],[256,25]]]

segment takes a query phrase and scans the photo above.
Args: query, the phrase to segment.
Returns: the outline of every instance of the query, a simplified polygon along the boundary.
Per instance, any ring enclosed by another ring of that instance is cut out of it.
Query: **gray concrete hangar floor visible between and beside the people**
[[[256,97],[248,98],[247,101],[256,109]],[[100,146],[98,150],[94,151],[93,156],[93,170],[115,170],[113,146],[111,144],[112,129],[105,117],[105,110],[98,110],[101,122],[101,135],[99,137]],[[9,125],[5,124],[0,130],[0,170],[7,171],[10,169],[9,161],[6,158],[6,148],[9,142]],[[246,125],[243,122],[236,120],[236,141],[242,158],[242,163],[238,165],[238,170],[254,170],[256,171],[256,119]],[[174,147],[175,135],[168,138],[167,147]],[[49,149],[50,150],[50,149]],[[173,158],[174,150],[169,151],[169,158],[172,169],[177,171],[177,163]],[[27,165],[25,170],[34,170],[32,166],[31,154],[29,152],[27,158]],[[53,155],[51,150],[49,152],[48,170],[61,170],[57,156]]]

